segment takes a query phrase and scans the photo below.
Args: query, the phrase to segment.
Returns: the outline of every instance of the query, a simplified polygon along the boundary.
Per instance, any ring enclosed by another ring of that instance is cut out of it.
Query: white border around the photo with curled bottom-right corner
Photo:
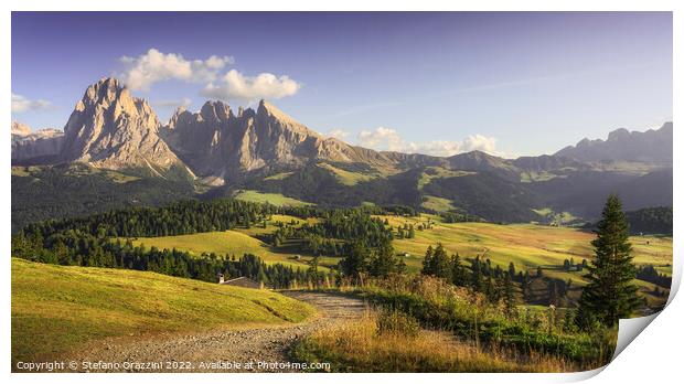
[[[11,13],[10,11],[381,11],[381,10],[395,10],[395,11],[419,11],[419,10],[436,10],[436,11],[673,11],[674,21],[674,66],[673,68],[681,67],[682,49],[684,47],[684,40],[682,39],[682,22],[684,18],[684,2],[676,0],[622,0],[622,1],[608,1],[608,0],[575,0],[575,1],[543,1],[543,0],[487,0],[487,1],[460,1],[447,3],[445,1],[437,0],[421,0],[416,1],[387,1],[386,3],[370,3],[367,0],[331,0],[331,1],[317,1],[309,2],[306,0],[260,0],[260,1],[243,1],[239,3],[228,3],[218,1],[180,1],[180,0],[149,0],[143,3],[142,1],[131,0],[118,0],[117,2],[105,2],[98,0],[90,0],[85,2],[84,0],[10,0],[2,2],[1,8],[3,12],[0,15],[0,30],[2,50],[4,51],[4,60],[0,62],[2,68],[2,76],[0,77],[0,85],[4,90],[6,102],[0,106],[0,111],[3,116],[3,121],[9,125],[11,121],[10,113],[10,89],[11,89],[11,62],[9,60],[11,55]],[[673,120],[682,111],[682,82],[683,77],[674,71],[674,87],[673,87]],[[0,207],[1,216],[7,217],[0,225],[2,225],[2,254],[6,257],[2,264],[2,286],[0,292],[0,300],[6,314],[2,317],[2,351],[0,361],[7,363],[1,364],[0,370],[4,372],[6,378],[18,383],[36,383],[36,382],[50,382],[50,383],[84,383],[93,378],[101,381],[103,383],[118,383],[121,380],[128,382],[148,382],[152,380],[163,380],[167,383],[180,383],[188,380],[200,382],[216,382],[216,381],[239,381],[242,383],[263,383],[263,382],[278,382],[280,383],[300,383],[306,381],[327,381],[330,383],[344,383],[351,377],[345,374],[11,374],[10,373],[10,221],[11,206],[7,204],[11,199],[11,171],[10,167],[10,137],[9,135],[0,135],[2,148],[6,151],[0,151],[2,161],[6,167],[1,168],[1,175],[3,186],[1,189],[2,201],[6,203]],[[674,147],[682,148],[683,135],[674,131]],[[683,160],[682,153],[674,151],[674,163],[681,167]],[[682,202],[682,178],[674,172],[674,201],[675,206],[680,206]],[[678,216],[674,218],[674,267],[673,267],[673,287],[678,287],[682,271],[682,243],[678,241],[678,236],[683,233],[684,221],[678,220]],[[653,324],[646,327],[642,332],[643,335],[637,338],[630,345],[627,346],[624,353],[621,353],[617,359],[608,364],[605,370],[599,369],[596,371],[570,373],[570,374],[356,374],[354,380],[359,381],[372,381],[372,380],[387,380],[398,382],[417,382],[417,381],[430,381],[430,382],[467,382],[467,383],[491,383],[495,382],[512,382],[512,383],[544,383],[556,381],[578,381],[595,376],[597,373],[603,371],[600,375],[595,377],[595,382],[610,383],[616,381],[653,381],[669,377],[681,376],[680,365],[681,351],[680,345],[684,341],[684,332],[682,332],[682,313],[684,312],[684,303],[682,299],[673,300],[676,297],[676,288],[672,290],[670,297],[670,305],[663,311],[663,313],[653,320]],[[125,375],[125,376],[124,376]],[[221,375],[221,376],[218,376]]]

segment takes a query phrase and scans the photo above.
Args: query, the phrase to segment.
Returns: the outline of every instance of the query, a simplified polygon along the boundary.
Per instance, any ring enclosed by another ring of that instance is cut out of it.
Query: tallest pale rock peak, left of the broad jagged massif
[[[117,79],[103,78],[86,89],[66,122],[61,159],[153,173],[182,166],[159,137],[160,127],[146,100],[131,97]]]

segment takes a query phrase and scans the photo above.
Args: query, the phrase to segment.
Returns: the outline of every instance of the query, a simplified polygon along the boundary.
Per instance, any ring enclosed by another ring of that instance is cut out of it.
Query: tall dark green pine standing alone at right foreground
[[[596,258],[587,266],[589,284],[579,299],[578,322],[587,327],[596,320],[613,327],[641,305],[632,284],[637,268],[628,242],[629,224],[614,194],[608,196],[596,235],[591,242]]]

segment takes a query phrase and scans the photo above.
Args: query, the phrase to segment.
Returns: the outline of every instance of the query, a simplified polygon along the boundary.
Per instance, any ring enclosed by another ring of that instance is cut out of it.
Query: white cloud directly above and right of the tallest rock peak
[[[119,76],[133,90],[147,90],[152,84],[169,79],[213,82],[221,70],[235,63],[232,56],[212,55],[204,61],[190,61],[181,54],[163,53],[156,49],[150,49],[138,57],[122,56],[119,61],[125,67]]]

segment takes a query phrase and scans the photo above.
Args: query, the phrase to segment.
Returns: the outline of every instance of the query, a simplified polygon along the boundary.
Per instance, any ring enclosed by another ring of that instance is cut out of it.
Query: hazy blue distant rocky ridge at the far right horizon
[[[641,161],[672,163],[672,122],[660,129],[630,132],[624,128],[613,130],[608,140],[584,139],[577,146],[568,146],[556,156],[579,161]]]

